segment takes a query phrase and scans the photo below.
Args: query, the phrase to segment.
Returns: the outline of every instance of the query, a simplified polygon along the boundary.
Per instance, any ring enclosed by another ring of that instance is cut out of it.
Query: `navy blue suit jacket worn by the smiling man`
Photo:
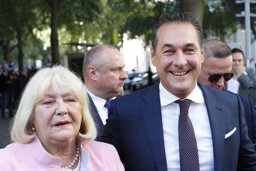
[[[214,170],[256,170],[256,153],[240,98],[199,86],[212,132]],[[225,139],[235,127],[234,134]],[[167,171],[159,84],[112,101],[101,140],[117,148],[126,171]]]

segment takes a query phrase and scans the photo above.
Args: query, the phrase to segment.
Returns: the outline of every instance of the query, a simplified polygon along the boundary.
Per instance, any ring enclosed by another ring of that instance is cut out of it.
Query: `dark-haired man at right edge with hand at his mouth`
[[[245,71],[245,58],[243,52],[238,49],[232,49],[233,65],[232,72],[234,77],[228,81],[227,90],[249,97],[256,109],[256,85]]]

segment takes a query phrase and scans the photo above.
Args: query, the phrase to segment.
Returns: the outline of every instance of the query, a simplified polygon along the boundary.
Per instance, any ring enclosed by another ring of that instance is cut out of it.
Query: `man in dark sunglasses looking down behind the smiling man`
[[[233,77],[232,52],[229,46],[220,40],[204,42],[204,62],[198,81],[201,84],[225,90],[228,81]],[[231,93],[231,92],[230,92]],[[245,120],[248,127],[248,136],[256,144],[256,112],[250,99],[240,95],[245,110]]]

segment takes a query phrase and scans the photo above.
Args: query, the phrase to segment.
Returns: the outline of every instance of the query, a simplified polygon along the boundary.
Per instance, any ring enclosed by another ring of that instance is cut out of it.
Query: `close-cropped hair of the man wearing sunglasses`
[[[211,39],[204,42],[204,59],[209,57],[225,58],[231,55],[229,45],[221,40]]]

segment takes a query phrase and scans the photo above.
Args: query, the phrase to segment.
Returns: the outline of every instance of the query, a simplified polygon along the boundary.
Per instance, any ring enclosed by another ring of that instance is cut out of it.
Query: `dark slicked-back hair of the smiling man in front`
[[[154,48],[154,51],[156,50],[156,45],[158,44],[158,30],[161,26],[168,23],[191,23],[196,28],[199,45],[201,48],[203,47],[203,31],[201,29],[199,22],[197,22],[197,20],[193,18],[191,14],[184,11],[174,12],[172,14],[164,14],[160,16],[158,22],[155,23],[155,26],[151,32],[152,47]]]

